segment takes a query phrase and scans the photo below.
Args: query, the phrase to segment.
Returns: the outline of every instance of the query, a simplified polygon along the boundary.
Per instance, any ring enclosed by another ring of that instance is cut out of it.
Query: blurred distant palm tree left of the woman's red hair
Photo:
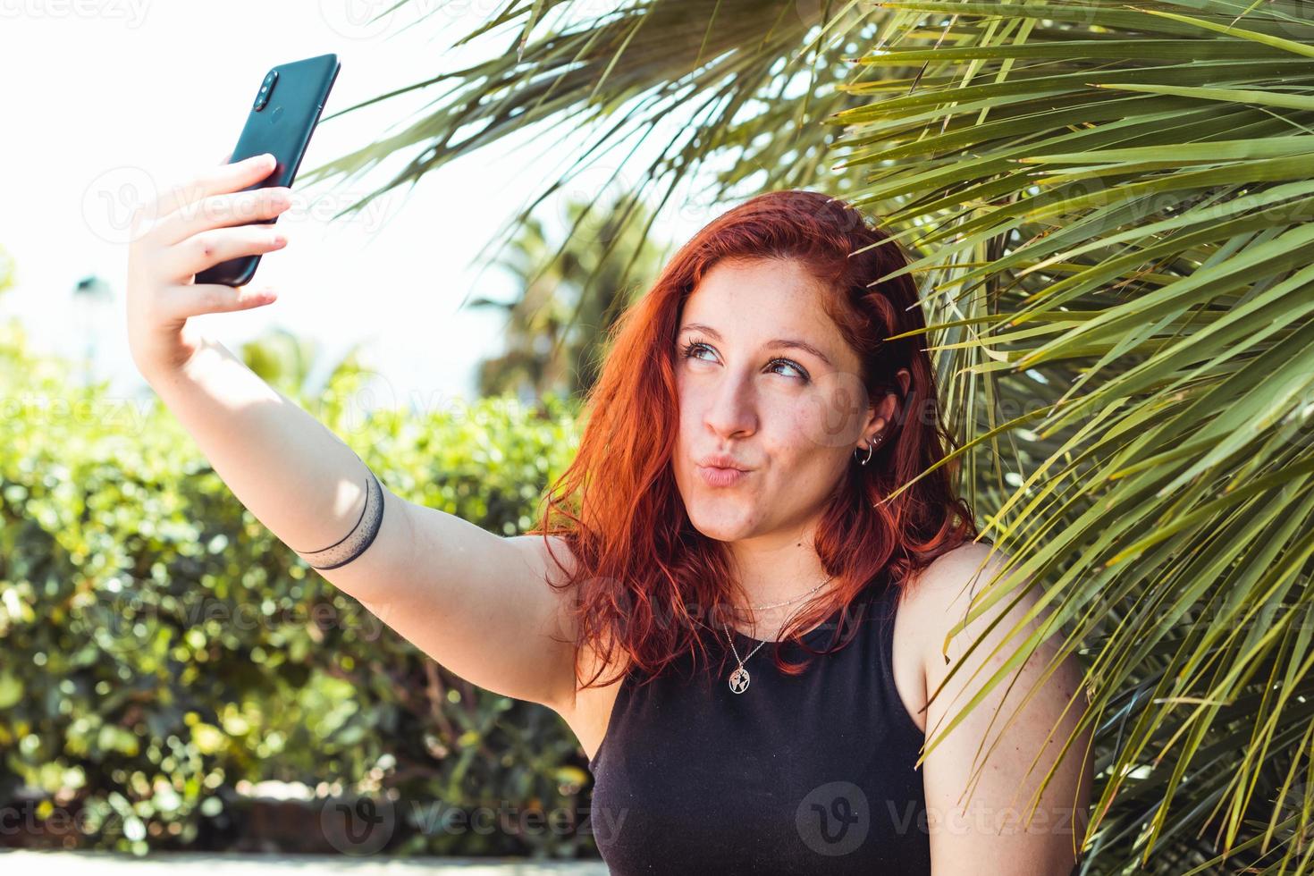
[[[566,204],[572,227],[578,227],[589,209],[578,201]],[[530,403],[548,393],[589,391],[598,377],[607,330],[660,267],[658,247],[640,236],[635,223],[619,219],[607,211],[597,236],[568,235],[556,252],[543,223],[526,221],[509,255],[497,261],[515,277],[519,297],[510,302],[470,301],[473,307],[498,307],[507,314],[506,352],[480,364],[481,395],[515,393]],[[623,239],[604,253],[602,243],[614,234]]]

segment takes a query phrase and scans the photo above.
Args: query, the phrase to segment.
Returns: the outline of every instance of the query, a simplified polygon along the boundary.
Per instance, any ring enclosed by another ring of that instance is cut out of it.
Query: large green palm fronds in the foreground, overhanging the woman
[[[586,164],[673,114],[636,202],[696,175],[710,204],[812,186],[876,214],[915,253],[984,535],[1020,561],[978,599],[1043,582],[1088,667],[1083,872],[1310,872],[1311,5],[622,0],[545,24],[577,5],[510,4],[468,38],[514,26],[516,53],[418,83],[453,87],[315,173],[414,148],[381,193],[606,120]]]

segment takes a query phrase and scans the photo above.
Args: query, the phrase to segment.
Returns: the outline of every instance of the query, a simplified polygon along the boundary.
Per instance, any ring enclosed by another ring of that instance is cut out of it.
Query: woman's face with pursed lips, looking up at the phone
[[[685,302],[674,473],[710,538],[795,537],[882,426],[820,296],[798,261],[725,260]],[[746,471],[703,468],[719,454]]]

